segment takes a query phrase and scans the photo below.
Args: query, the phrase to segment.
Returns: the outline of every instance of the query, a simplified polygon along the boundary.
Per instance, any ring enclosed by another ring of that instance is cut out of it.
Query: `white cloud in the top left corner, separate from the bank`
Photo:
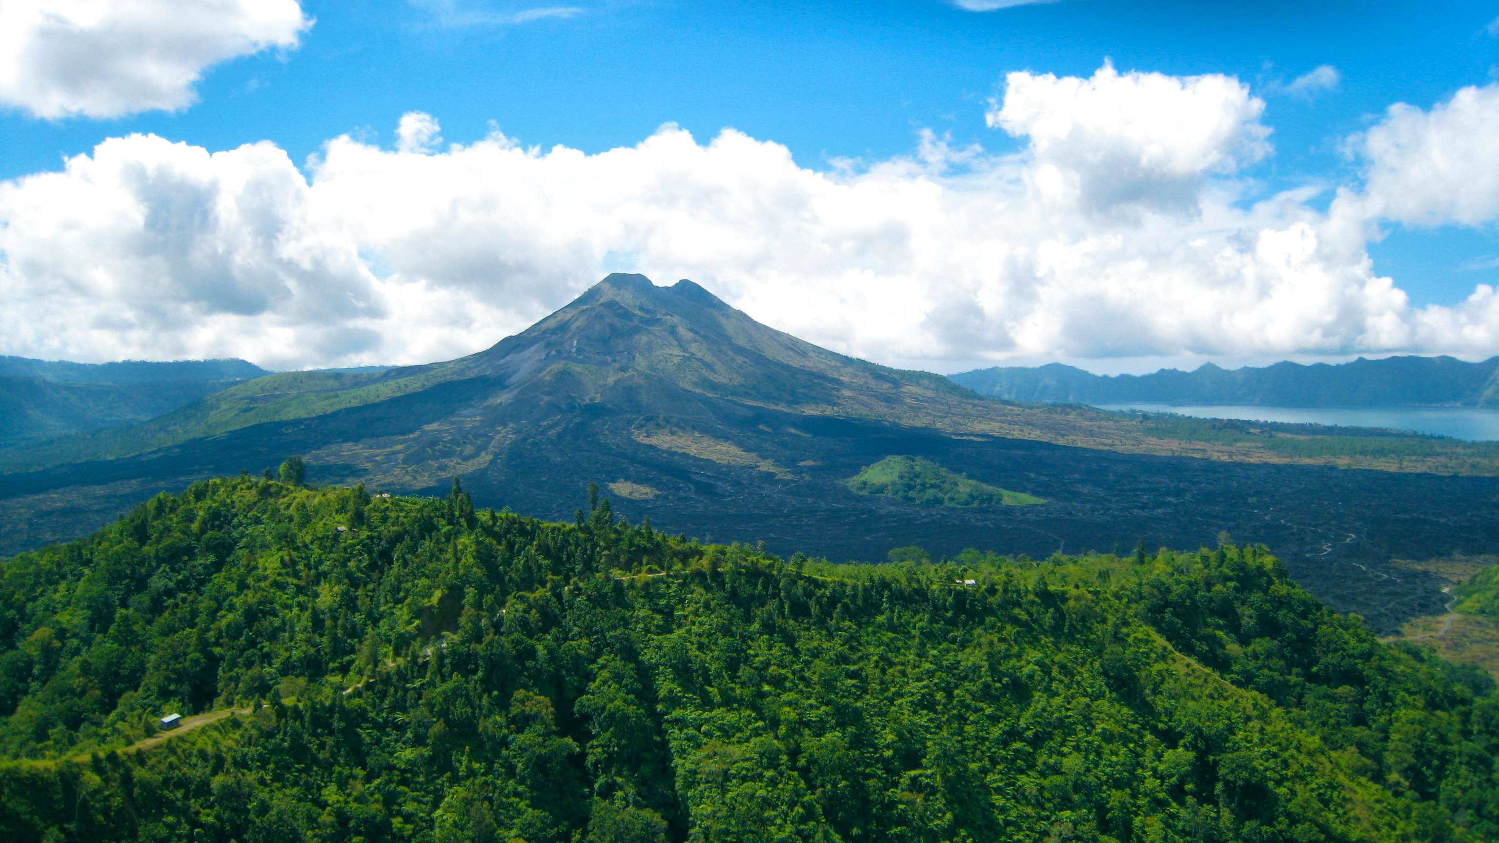
[[[4,0],[0,104],[36,117],[118,117],[193,102],[202,72],[297,46],[298,0]]]

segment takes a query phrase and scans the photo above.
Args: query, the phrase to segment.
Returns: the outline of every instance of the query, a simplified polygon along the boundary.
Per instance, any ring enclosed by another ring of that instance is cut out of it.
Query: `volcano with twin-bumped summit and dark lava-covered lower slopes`
[[[265,375],[142,424],[0,452],[0,554],[291,454],[315,483],[442,494],[457,478],[480,506],[559,520],[597,483],[631,520],[833,560],[1195,548],[1226,530],[1382,628],[1442,604],[1435,580],[1387,576],[1391,558],[1499,543],[1499,507],[1472,506],[1499,502],[1493,477],[1246,462],[1264,454],[983,398],[818,348],[691,280],[612,274],[468,357]]]

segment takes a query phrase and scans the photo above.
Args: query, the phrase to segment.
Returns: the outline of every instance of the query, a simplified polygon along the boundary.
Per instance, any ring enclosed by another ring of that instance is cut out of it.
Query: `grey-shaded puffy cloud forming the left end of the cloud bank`
[[[112,138],[61,172],[0,183],[0,330],[40,354],[276,358],[303,326],[385,312],[355,246],[316,225],[306,180],[268,142],[210,154]],[[289,348],[328,351],[310,340]]]

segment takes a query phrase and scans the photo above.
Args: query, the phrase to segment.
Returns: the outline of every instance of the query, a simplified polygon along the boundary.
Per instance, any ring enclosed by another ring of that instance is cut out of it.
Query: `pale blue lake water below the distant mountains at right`
[[[1471,442],[1499,440],[1499,410],[1475,406],[1247,406],[1234,404],[1099,404],[1099,410],[1142,410],[1177,412],[1199,418],[1243,418],[1246,422],[1292,422],[1342,424],[1345,428],[1393,428]]]

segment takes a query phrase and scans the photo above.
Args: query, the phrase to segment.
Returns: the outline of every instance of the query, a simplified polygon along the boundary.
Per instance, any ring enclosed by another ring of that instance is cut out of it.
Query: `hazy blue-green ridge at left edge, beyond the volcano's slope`
[[[244,360],[66,363],[0,357],[0,448],[145,422],[267,374]]]

